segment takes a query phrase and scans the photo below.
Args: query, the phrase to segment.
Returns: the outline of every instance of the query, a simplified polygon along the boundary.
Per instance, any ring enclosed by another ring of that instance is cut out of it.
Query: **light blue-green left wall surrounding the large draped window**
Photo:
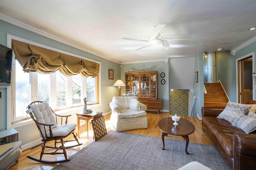
[[[49,47],[53,47],[55,49],[60,49],[69,53],[73,53],[76,55],[80,55],[82,57],[86,57],[88,59],[93,59],[95,61],[101,62],[101,76],[100,76],[100,91],[101,94],[101,106],[97,107],[97,110],[95,111],[102,111],[103,113],[106,113],[110,111],[110,108],[107,107],[107,104],[109,104],[112,100],[112,96],[117,96],[118,91],[116,91],[116,88],[112,85],[114,82],[118,79],[120,79],[120,64],[114,63],[112,61],[103,59],[101,57],[98,57],[96,55],[92,55],[90,53],[87,53],[85,51],[76,49],[74,47],[71,47],[69,45],[60,43],[58,41],[55,41],[53,39],[44,37],[42,35],[38,35],[34,32],[28,31],[26,29],[17,27],[15,25],[12,25],[10,23],[7,23],[5,21],[0,20],[0,44],[5,45],[7,44],[7,34],[14,35],[16,37],[20,37],[23,39],[27,39],[29,41],[34,41],[36,43],[40,43],[43,45],[47,45]],[[108,79],[108,69],[112,69],[115,72],[114,80]],[[2,92],[2,98],[0,98],[0,131],[3,131],[7,128],[6,125],[6,88],[0,88],[0,92]],[[74,120],[74,122],[76,122]],[[26,143],[30,143],[31,141],[37,140],[39,138],[39,133],[34,124],[26,125],[23,127],[15,128],[19,133],[19,140],[22,141],[22,145]],[[30,129],[30,133],[28,132],[28,129]]]

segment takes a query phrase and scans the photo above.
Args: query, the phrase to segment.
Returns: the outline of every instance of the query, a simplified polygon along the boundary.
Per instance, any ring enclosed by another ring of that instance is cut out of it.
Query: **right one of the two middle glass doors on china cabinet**
[[[140,74],[140,98],[150,98],[150,74]]]

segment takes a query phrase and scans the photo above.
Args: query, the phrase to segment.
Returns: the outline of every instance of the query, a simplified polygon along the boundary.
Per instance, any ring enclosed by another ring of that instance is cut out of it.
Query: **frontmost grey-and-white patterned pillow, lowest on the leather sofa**
[[[233,121],[232,126],[242,129],[247,134],[251,133],[256,130],[256,117],[241,114]]]

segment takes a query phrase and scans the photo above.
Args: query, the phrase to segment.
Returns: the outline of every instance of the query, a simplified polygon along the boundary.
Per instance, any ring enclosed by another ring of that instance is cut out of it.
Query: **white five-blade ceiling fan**
[[[191,39],[191,35],[160,35],[160,31],[162,31],[162,29],[165,27],[165,24],[161,24],[161,25],[154,25],[153,26],[153,30],[150,33],[150,35],[148,36],[148,40],[142,40],[142,39],[131,39],[131,38],[124,38],[127,40],[132,40],[132,41],[141,41],[141,42],[145,42],[145,43],[150,43],[150,45],[141,47],[139,49],[136,50],[140,50],[146,47],[149,47],[151,45],[158,45],[160,43],[162,43],[163,47],[168,50],[170,49],[170,45],[169,42],[167,40],[170,39]]]

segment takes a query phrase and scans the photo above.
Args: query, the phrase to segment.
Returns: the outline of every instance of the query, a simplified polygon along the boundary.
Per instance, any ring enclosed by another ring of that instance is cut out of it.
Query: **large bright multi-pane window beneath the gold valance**
[[[26,107],[36,100],[47,101],[55,110],[82,106],[84,97],[88,105],[98,104],[98,77],[83,78],[80,74],[66,77],[59,71],[52,74],[24,73],[17,60],[14,65],[13,123],[30,118]]]

